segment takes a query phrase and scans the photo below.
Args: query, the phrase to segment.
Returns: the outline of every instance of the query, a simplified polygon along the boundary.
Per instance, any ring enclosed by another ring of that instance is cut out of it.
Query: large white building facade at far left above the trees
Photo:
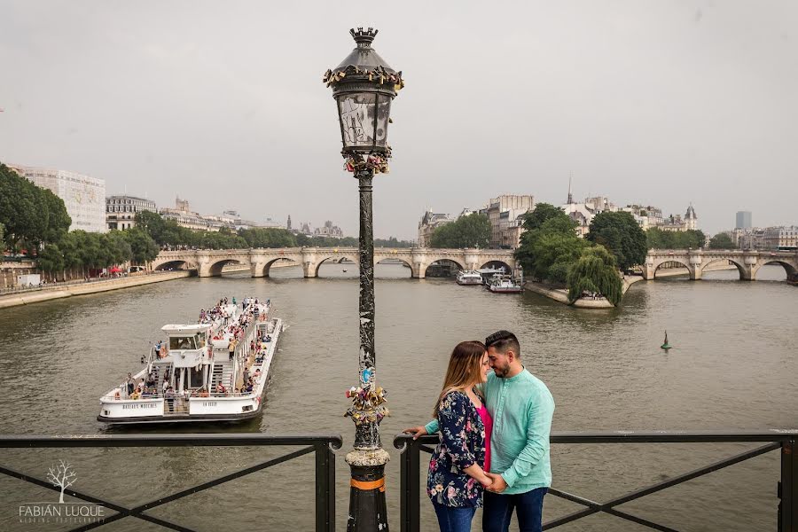
[[[106,232],[106,181],[66,170],[12,166],[20,176],[64,200],[69,231]]]

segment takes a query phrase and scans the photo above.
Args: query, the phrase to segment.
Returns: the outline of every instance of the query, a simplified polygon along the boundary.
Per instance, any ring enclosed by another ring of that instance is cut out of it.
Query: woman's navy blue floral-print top
[[[442,441],[429,460],[426,492],[433,502],[447,506],[482,505],[482,485],[463,471],[485,464],[485,427],[468,395],[453,391],[438,411]]]

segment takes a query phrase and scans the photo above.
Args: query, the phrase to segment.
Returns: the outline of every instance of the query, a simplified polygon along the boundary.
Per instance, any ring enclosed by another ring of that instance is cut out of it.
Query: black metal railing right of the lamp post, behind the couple
[[[420,453],[434,452],[430,444],[437,444],[440,438],[437,434],[422,436],[413,440],[407,434],[398,434],[394,439],[396,449],[401,449],[400,461],[400,520],[402,532],[416,532],[420,530],[420,495],[421,473]],[[708,473],[713,473],[729,465],[739,464],[750,458],[755,458],[773,450],[781,453],[781,480],[778,482],[778,531],[798,531],[798,430],[766,430],[759,432],[686,432],[686,431],[657,431],[657,432],[606,432],[606,433],[552,433],[552,444],[556,443],[764,443],[752,450],[724,458],[712,464],[705,465],[687,473],[679,474],[668,480],[657,482],[645,488],[636,489],[621,497],[614,497],[604,503],[580,497],[561,489],[550,488],[549,493],[583,505],[584,509],[567,514],[554,520],[544,522],[544,530],[557,528],[561,525],[583,519],[589,515],[603,512],[614,515],[622,520],[629,520],[647,528],[675,532],[651,520],[623,512],[617,506],[630,501],[657,493],[662,489],[670,488],[686,481],[691,481]]]

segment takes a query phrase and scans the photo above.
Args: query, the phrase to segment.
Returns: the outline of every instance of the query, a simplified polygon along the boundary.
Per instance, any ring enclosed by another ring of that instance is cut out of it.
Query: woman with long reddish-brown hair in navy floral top
[[[488,353],[481,341],[460,342],[449,359],[441,395],[433,415],[442,440],[429,461],[426,491],[442,532],[471,530],[482,505],[482,491],[491,484],[485,471],[490,416],[476,387],[487,381]]]

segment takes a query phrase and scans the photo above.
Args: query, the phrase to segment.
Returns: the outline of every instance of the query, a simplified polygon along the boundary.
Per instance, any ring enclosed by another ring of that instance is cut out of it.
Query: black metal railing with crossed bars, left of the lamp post
[[[91,495],[65,489],[64,494],[102,505],[113,510],[114,515],[100,518],[90,524],[72,528],[70,532],[98,528],[113,521],[126,517],[133,517],[149,521],[161,527],[181,532],[193,532],[192,528],[184,527],[179,523],[161,519],[146,513],[160,505],[165,505],[177,499],[188,497],[205,489],[214,488],[225,482],[239,479],[247,474],[262,471],[273,465],[282,464],[293,458],[299,458],[309,453],[316,455],[316,531],[332,532],[335,529],[335,455],[333,449],[340,449],[342,442],[339,434],[312,434],[298,436],[270,436],[266,434],[137,434],[137,435],[69,435],[69,436],[2,436],[0,435],[0,448],[4,449],[41,449],[41,448],[76,448],[76,447],[258,447],[258,446],[295,446],[301,447],[278,458],[271,458],[265,462],[250,465],[234,473],[228,473],[211,481],[202,482],[191,488],[182,489],[165,497],[153,498],[143,504],[126,506],[113,503],[103,495],[103,489],[98,487],[99,495]],[[0,465],[0,474],[10,476],[21,481],[26,481],[44,489],[60,492],[51,481],[37,478],[27,473],[16,471],[5,465]]]

